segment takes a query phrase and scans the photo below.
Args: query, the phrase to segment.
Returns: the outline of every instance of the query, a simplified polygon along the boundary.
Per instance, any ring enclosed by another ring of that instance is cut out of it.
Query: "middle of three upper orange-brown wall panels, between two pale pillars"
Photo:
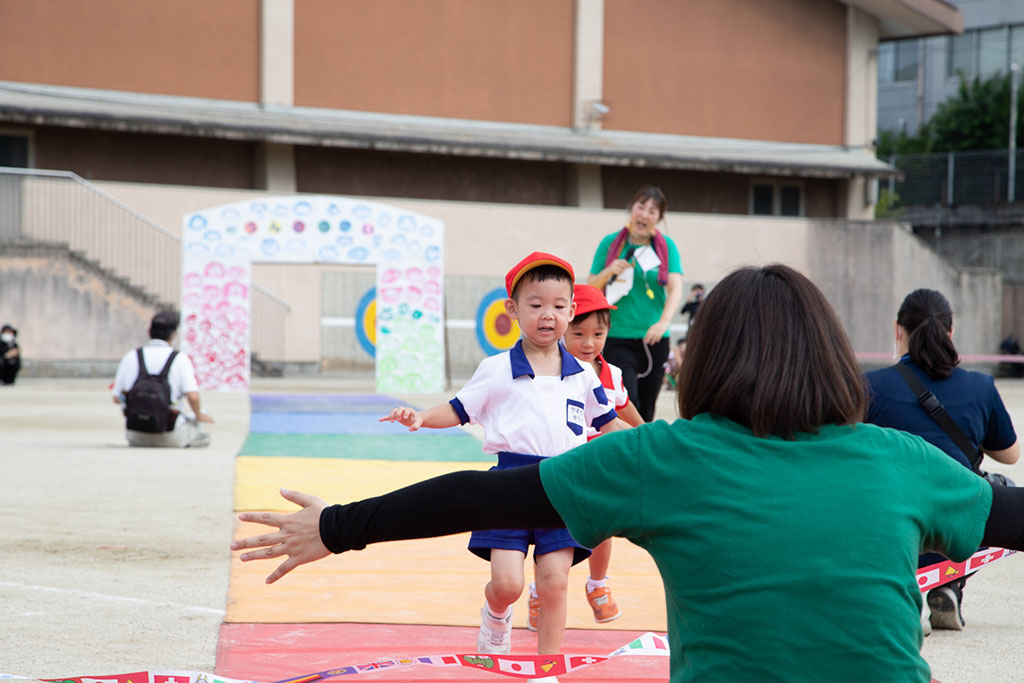
[[[295,0],[295,103],[567,126],[572,0]]]

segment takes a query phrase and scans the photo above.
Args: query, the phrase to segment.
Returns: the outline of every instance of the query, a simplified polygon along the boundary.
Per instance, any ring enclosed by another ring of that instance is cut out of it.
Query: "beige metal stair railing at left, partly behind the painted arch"
[[[181,239],[75,173],[0,167],[3,242],[66,247],[155,306],[179,306]],[[284,360],[291,306],[252,291],[252,351]]]

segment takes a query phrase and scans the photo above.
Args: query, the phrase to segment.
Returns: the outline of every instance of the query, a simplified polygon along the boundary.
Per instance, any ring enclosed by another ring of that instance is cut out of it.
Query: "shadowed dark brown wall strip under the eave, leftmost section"
[[[38,128],[36,167],[86,179],[209,187],[253,187],[255,142]]]

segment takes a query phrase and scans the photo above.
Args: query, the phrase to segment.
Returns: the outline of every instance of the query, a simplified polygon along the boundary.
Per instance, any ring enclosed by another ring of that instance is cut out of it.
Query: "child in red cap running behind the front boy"
[[[630,395],[623,386],[623,371],[612,366],[601,351],[604,350],[604,340],[608,338],[611,324],[609,311],[615,306],[608,303],[601,290],[590,285],[577,285],[573,289],[575,314],[565,333],[565,350],[578,359],[588,362],[601,380],[605,393],[615,407],[618,417],[631,427],[643,424],[640,412],[630,401]],[[590,440],[599,435],[596,429],[588,432]],[[622,613],[618,605],[611,597],[611,589],[607,587],[608,563],[611,560],[611,539],[607,539],[594,548],[590,556],[590,575],[587,578],[587,602],[594,611],[594,621],[604,624],[618,618]],[[534,584],[529,586],[529,624],[531,631],[537,631],[538,615],[541,600],[538,598]]]

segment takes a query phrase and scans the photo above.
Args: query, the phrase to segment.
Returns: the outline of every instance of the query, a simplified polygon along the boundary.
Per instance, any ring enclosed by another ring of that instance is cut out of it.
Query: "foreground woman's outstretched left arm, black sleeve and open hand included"
[[[243,562],[288,556],[267,577],[268,584],[300,564],[371,543],[565,525],[544,493],[540,465],[454,472],[348,505],[328,506],[294,490],[282,489],[281,495],[302,509],[291,514],[244,512],[239,515],[242,521],[278,530],[231,544],[231,550],[256,549],[243,553]]]

